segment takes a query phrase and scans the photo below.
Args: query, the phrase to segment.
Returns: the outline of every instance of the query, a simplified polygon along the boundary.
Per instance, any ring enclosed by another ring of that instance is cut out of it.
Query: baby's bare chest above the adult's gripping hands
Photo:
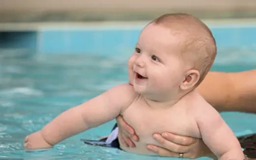
[[[153,133],[171,132],[200,138],[197,124],[188,107],[151,108],[138,100],[123,113],[125,121],[134,128],[141,140],[152,139]]]

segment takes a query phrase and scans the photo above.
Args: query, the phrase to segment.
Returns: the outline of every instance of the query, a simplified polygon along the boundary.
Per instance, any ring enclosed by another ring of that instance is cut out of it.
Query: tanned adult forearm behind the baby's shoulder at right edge
[[[219,111],[256,112],[256,70],[209,72],[197,90]]]

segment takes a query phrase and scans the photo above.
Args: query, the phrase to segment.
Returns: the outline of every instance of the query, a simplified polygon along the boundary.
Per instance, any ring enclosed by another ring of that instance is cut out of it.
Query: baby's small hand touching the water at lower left
[[[40,148],[50,148],[52,147],[47,141],[44,140],[41,131],[32,133],[24,139],[23,147],[29,149],[40,149]]]

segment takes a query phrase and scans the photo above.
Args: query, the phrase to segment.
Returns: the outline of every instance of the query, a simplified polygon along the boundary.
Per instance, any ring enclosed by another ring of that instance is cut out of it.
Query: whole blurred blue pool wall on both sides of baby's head
[[[140,25],[51,25],[0,30],[0,53],[112,54],[132,52]],[[18,28],[18,27],[17,27]],[[210,25],[218,48],[256,48],[256,25]]]

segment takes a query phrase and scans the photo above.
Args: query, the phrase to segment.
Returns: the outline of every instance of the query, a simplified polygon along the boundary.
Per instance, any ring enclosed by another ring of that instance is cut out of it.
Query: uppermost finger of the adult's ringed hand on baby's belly
[[[180,145],[191,145],[196,143],[196,138],[164,132],[161,134],[165,139]]]

